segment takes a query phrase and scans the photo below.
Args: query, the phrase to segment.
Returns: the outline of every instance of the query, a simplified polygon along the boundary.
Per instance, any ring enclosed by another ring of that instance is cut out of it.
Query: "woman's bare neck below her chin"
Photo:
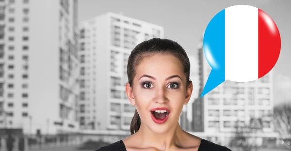
[[[141,127],[136,134],[141,136],[141,145],[145,148],[154,147],[160,151],[168,151],[171,146],[179,144],[182,133],[183,130],[177,122],[172,129],[163,134],[154,133],[145,124],[141,123]]]

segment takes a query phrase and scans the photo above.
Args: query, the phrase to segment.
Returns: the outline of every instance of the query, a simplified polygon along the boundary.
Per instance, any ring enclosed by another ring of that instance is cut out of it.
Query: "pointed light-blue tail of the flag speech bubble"
[[[221,83],[225,81],[225,72],[220,72],[217,70],[211,70],[207,82],[204,86],[204,89],[200,95],[202,98],[205,94],[219,86]]]

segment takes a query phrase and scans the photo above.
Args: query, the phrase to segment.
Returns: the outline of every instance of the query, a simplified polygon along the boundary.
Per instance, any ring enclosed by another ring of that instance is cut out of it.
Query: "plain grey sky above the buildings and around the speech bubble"
[[[119,13],[164,27],[164,38],[197,55],[197,45],[211,18],[238,4],[255,6],[275,21],[281,52],[274,71],[274,104],[291,102],[291,0],[79,0],[79,20]],[[247,59],[246,59],[247,60]]]

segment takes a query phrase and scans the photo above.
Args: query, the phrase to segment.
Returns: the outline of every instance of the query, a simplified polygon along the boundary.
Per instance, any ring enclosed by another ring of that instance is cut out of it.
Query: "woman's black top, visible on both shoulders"
[[[117,141],[108,146],[101,147],[96,151],[126,151],[125,145],[122,140]],[[225,146],[214,144],[206,139],[202,139],[198,151],[231,151]]]

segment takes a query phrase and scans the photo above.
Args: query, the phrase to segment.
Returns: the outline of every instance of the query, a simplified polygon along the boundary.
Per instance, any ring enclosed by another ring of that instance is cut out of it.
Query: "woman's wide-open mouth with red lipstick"
[[[166,122],[170,115],[170,110],[165,107],[154,108],[150,112],[152,120],[158,124]]]

